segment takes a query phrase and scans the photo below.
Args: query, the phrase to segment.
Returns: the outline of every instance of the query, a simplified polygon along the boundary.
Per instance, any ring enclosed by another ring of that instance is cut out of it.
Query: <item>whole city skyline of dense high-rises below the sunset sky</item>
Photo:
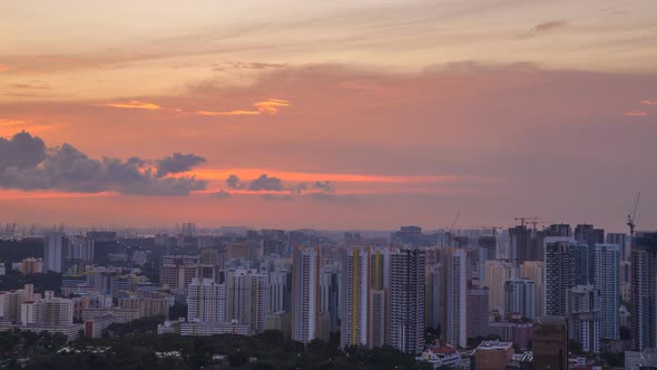
[[[7,224],[0,329],[61,335],[62,357],[111,351],[92,343],[130,330],[277,332],[302,352],[320,342],[345,354],[381,348],[409,356],[411,364],[394,366],[428,369],[649,367],[657,360],[657,233],[635,232],[628,217],[630,233],[540,227],[538,217],[504,230],[401,226],[388,234],[183,223],[156,234],[59,225],[26,235],[20,230],[36,226]],[[155,350],[174,364],[188,356]],[[202,360],[239,361],[236,353]],[[249,358],[259,360],[268,359]]]

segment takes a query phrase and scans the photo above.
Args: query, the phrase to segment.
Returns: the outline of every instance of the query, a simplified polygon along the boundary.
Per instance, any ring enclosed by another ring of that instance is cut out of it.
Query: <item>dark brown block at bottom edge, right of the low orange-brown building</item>
[[[532,344],[532,369],[568,369],[568,324],[563,318],[540,318],[533,325]]]

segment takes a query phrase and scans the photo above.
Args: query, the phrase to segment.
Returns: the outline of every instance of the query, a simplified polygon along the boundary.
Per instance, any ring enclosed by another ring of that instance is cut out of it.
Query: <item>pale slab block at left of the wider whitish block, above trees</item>
[[[194,279],[187,289],[187,318],[197,322],[225,322],[225,289],[209,279]]]

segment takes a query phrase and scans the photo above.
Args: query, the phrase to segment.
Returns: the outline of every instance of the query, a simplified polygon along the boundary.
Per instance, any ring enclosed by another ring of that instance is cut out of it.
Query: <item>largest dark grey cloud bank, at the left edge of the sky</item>
[[[174,155],[175,157],[175,155]],[[171,157],[168,157],[171,158]],[[161,163],[166,160],[159,160]],[[146,162],[104,157],[89,158],[69,144],[46,149],[28,133],[0,138],[0,187],[60,189],[65,192],[118,192],[122,194],[176,196],[205,189],[207,182],[195,177],[161,178]]]

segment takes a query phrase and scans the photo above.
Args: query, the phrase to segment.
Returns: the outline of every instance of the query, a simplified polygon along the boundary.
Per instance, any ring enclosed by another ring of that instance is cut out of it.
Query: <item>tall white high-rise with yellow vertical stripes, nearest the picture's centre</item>
[[[345,247],[340,251],[342,286],[340,293],[341,347],[370,345],[370,250]]]

